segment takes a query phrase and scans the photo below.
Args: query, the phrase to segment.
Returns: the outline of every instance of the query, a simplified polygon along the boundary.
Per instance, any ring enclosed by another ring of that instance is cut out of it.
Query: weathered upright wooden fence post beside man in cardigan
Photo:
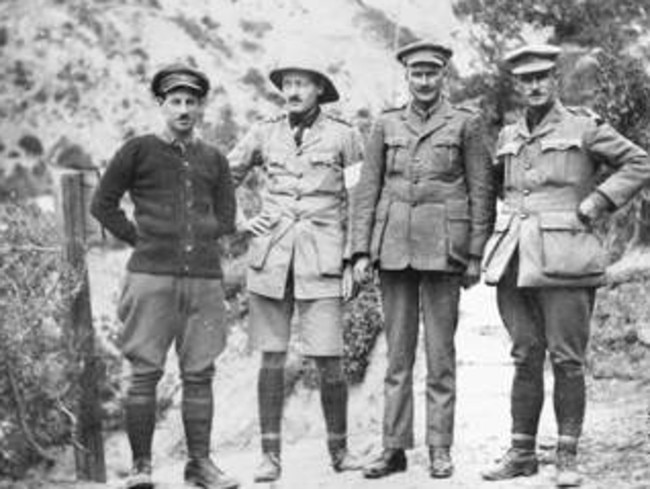
[[[64,257],[79,273],[80,285],[71,298],[66,324],[80,358],[80,394],[75,426],[75,464],[79,480],[106,482],[99,386],[101,361],[95,354],[95,337],[90,307],[90,284],[86,268],[86,206],[83,173],[61,173],[60,207],[65,236]]]

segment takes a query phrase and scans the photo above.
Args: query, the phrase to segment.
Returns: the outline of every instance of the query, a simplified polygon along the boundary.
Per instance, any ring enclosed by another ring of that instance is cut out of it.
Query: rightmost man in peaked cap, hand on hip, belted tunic
[[[650,181],[650,160],[591,110],[562,104],[560,52],[557,46],[527,45],[504,58],[524,111],[499,135],[495,170],[503,206],[486,246],[484,271],[486,282],[497,287],[515,375],[511,447],[483,477],[537,472],[548,352],[555,378],[557,486],[576,487],[589,324],[607,263],[592,225]],[[603,165],[612,173],[600,181]]]

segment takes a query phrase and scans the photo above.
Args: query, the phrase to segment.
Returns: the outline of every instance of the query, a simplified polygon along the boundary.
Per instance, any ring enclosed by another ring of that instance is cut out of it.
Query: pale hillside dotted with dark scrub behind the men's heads
[[[367,117],[400,97],[395,42],[451,41],[458,26],[450,1],[2,0],[0,171],[55,159],[62,138],[101,163],[124,138],[155,129],[147,81],[176,60],[213,80],[204,133],[226,149],[277,110],[266,75],[296,46],[327,60],[343,94],[335,110]],[[465,69],[471,54],[461,51]]]

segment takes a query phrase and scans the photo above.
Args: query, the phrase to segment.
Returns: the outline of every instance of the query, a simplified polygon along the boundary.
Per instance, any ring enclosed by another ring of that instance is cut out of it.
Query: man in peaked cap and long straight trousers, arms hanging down
[[[412,369],[419,311],[427,356],[430,475],[450,477],[456,399],[454,336],[461,287],[479,279],[494,193],[483,124],[444,94],[452,50],[420,41],[396,53],[410,101],[381,114],[354,195],[355,279],[379,271],[388,343],[383,451],[367,478],[406,470],[414,445]]]

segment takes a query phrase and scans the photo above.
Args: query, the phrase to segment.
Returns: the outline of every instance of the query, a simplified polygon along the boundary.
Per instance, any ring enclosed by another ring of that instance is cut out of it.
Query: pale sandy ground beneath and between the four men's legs
[[[106,304],[114,301],[117,294],[121,261],[123,257],[108,264],[102,260],[100,264],[91,255],[92,276],[102,277],[101,283],[97,283],[95,278],[93,284],[94,299],[98,302],[95,315],[111,314]],[[107,276],[110,278],[107,279]],[[427,474],[428,457],[423,445],[425,370],[420,345],[414,380],[416,449],[408,453],[407,472],[374,481],[363,479],[360,473],[333,473],[328,466],[318,394],[299,389],[288,401],[285,410],[284,473],[281,482],[254,484],[252,471],[258,457],[254,386],[258,360],[248,351],[245,335],[240,330],[233,331],[228,349],[218,362],[215,380],[213,445],[218,463],[241,480],[242,489],[554,487],[554,469],[550,459],[555,443],[555,427],[550,395],[547,395],[540,430],[540,454],[547,463],[542,465],[540,473],[534,477],[506,482],[485,482],[480,478],[480,471],[507,448],[509,432],[512,367],[508,358],[508,339],[494,305],[493,289],[477,286],[463,295],[457,349],[458,402],[453,449],[456,472],[451,479],[433,480]],[[353,388],[350,393],[350,445],[365,457],[371,457],[380,448],[384,368],[385,343],[382,338],[373,353],[365,383]],[[551,387],[549,377],[547,394],[550,394]],[[580,455],[581,470],[585,475],[584,488],[650,488],[648,399],[648,385],[590,380],[588,413]],[[157,487],[183,487],[184,447],[177,403],[166,419],[159,423],[155,446]],[[106,458],[109,473],[107,485],[65,482],[73,479],[73,464],[68,453],[62,456],[61,463],[48,474],[49,480],[41,487],[121,487],[120,477],[129,466],[128,445],[123,433],[107,438]],[[23,487],[32,486],[26,482]]]

